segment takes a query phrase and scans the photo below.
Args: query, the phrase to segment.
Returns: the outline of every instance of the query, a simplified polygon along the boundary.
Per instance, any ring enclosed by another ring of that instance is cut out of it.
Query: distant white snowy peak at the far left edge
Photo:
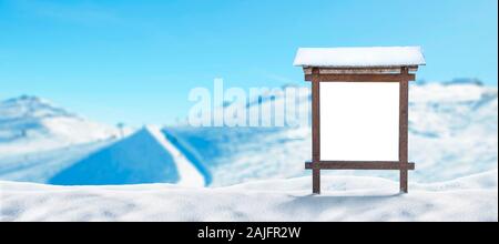
[[[119,134],[115,128],[88,121],[35,96],[0,103],[0,155],[102,141]]]

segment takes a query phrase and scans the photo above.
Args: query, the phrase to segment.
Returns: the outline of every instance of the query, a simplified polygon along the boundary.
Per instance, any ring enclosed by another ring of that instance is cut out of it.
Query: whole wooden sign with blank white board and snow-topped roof
[[[295,65],[312,82],[313,192],[320,170],[396,170],[408,192],[408,85],[420,48],[299,49]]]

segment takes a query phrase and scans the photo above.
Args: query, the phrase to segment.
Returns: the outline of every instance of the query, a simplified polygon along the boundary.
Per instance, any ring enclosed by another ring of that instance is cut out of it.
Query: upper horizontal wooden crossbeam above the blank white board
[[[415,81],[416,75],[411,73],[406,74],[305,74],[305,81],[320,81],[320,82],[400,82]]]

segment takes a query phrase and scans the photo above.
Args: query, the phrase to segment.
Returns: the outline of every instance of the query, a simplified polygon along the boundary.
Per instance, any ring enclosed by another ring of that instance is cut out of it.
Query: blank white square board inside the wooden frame
[[[398,82],[320,82],[320,160],[398,161]]]

